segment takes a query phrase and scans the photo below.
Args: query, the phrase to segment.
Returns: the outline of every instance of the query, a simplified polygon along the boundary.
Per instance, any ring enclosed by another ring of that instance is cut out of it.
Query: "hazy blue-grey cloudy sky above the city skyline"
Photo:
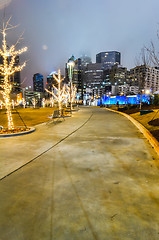
[[[5,10],[4,10],[5,7]],[[122,65],[131,68],[144,45],[157,42],[159,0],[0,0],[0,19],[12,16],[19,26],[7,35],[9,44],[24,31],[21,60],[25,85],[34,73],[46,75],[61,68],[73,54],[86,53],[95,62],[102,51],[121,52]],[[2,24],[1,24],[2,25]]]

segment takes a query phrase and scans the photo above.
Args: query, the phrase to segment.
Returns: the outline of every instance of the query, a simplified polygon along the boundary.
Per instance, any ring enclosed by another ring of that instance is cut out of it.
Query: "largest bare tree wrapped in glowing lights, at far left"
[[[15,66],[15,62],[16,56],[19,56],[23,52],[27,51],[27,47],[24,47],[17,51],[15,50],[15,47],[19,43],[19,40],[21,39],[22,36],[20,36],[16,44],[12,45],[10,48],[8,47],[8,44],[6,42],[6,32],[10,29],[15,28],[15,26],[12,26],[10,24],[10,19],[11,18],[9,18],[9,20],[6,23],[3,23],[3,28],[0,29],[0,33],[2,34],[2,48],[0,48],[0,56],[2,57],[3,60],[3,64],[0,65],[0,74],[3,76],[3,82],[1,82],[0,84],[1,87],[0,93],[3,96],[4,105],[5,108],[7,109],[8,130],[14,129],[10,99],[10,93],[12,90],[10,76],[13,75],[15,72],[21,71],[25,67],[26,62],[19,66]]]

